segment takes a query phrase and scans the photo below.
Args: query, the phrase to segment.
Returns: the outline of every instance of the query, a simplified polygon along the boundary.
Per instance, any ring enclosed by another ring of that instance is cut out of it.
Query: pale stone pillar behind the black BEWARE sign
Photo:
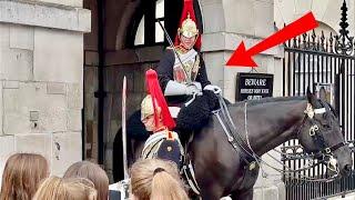
[[[244,41],[248,49],[275,31],[274,1],[200,0],[200,6],[204,22],[202,51],[209,78],[213,84],[222,88],[227,100],[235,102],[236,73],[250,72],[251,68],[226,68],[225,63],[241,41]],[[274,97],[282,96],[282,47],[268,49],[254,57],[258,64],[257,72],[274,74]],[[280,167],[272,159],[265,159]],[[263,168],[270,176],[260,177],[254,187],[254,199],[284,199],[281,174]]]

